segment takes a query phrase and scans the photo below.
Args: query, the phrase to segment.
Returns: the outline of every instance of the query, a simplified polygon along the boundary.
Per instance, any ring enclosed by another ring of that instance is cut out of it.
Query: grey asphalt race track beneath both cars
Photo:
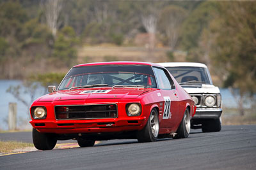
[[[26,134],[31,136],[25,132],[23,138]],[[192,131],[186,139],[154,143],[112,140],[89,148],[6,155],[0,157],[0,169],[256,169],[256,125]]]

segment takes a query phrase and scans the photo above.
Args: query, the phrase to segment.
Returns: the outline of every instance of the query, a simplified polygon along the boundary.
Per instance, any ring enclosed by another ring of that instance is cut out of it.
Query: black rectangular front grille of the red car
[[[83,106],[55,106],[55,116],[58,120],[116,118],[116,104],[97,104]]]

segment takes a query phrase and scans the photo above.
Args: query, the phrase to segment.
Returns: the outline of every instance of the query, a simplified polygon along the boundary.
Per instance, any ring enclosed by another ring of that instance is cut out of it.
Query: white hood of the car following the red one
[[[218,94],[220,93],[220,89],[214,85],[202,85],[200,87],[183,87],[186,92],[189,94]]]

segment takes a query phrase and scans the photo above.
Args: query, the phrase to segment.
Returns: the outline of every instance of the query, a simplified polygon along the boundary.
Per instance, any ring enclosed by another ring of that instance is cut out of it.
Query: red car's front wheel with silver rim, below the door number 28
[[[159,119],[157,110],[154,108],[150,112],[148,122],[145,127],[137,132],[137,139],[142,142],[154,142],[156,141],[159,133]]]

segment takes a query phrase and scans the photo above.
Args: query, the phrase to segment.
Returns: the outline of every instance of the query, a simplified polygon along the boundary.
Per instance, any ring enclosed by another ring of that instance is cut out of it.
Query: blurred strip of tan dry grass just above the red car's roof
[[[78,62],[102,62],[111,60],[168,62],[166,52],[169,48],[154,48],[150,50],[137,46],[84,46],[78,51]],[[184,61],[184,56],[175,53],[177,61]]]

